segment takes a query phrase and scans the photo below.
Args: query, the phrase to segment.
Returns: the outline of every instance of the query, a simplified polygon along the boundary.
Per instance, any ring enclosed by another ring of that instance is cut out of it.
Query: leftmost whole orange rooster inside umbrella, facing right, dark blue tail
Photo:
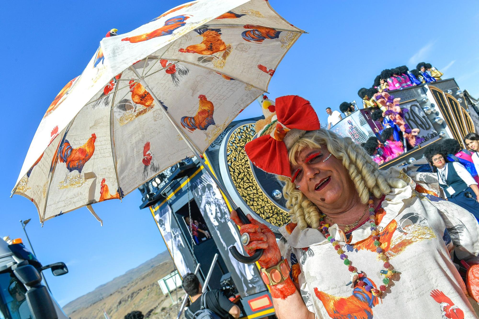
[[[67,133],[65,133],[66,136]],[[88,141],[80,147],[73,148],[67,139],[63,140],[58,148],[58,160],[59,163],[65,163],[68,173],[77,171],[78,175],[81,174],[83,166],[90,160],[91,156],[95,152],[96,134],[91,134]]]

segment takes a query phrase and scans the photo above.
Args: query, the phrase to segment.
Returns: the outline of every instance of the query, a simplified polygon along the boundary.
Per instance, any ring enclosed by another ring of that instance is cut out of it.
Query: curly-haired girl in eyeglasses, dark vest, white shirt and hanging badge
[[[479,220],[479,188],[464,165],[449,162],[441,147],[431,146],[426,157],[436,171],[447,200],[467,209]]]

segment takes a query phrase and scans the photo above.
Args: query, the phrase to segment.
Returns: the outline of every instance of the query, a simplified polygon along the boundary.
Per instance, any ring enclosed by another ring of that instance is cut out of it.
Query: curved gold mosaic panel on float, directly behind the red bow
[[[281,227],[290,222],[288,213],[266,196],[251,170],[244,145],[253,138],[254,124],[239,126],[226,144],[228,170],[237,192],[245,203],[263,220]]]

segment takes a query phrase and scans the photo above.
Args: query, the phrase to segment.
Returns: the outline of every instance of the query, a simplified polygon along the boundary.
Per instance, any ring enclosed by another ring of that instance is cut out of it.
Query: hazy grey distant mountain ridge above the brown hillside
[[[115,277],[113,280],[107,282],[106,284],[96,287],[88,294],[78,297],[77,299],[69,302],[63,307],[63,311],[65,311],[67,314],[71,314],[77,309],[87,308],[90,305],[102,300],[103,298],[108,297],[113,293],[121,290],[122,287],[128,286],[128,284],[135,281],[138,277],[149,273],[151,269],[158,267],[158,265],[163,264],[166,261],[171,261],[170,253],[168,253],[168,251],[158,254],[147,262],[140,264],[138,267],[128,270],[125,274]],[[166,264],[164,264],[164,266],[166,266]],[[172,263],[171,267],[165,268],[165,271],[165,275],[173,271]],[[161,277],[156,278],[155,282]],[[156,285],[158,286],[158,284]]]

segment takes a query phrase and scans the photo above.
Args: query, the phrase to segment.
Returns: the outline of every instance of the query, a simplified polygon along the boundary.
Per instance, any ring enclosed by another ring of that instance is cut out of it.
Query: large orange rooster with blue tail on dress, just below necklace
[[[366,285],[376,287],[369,278],[363,277]],[[336,297],[319,291],[314,288],[316,297],[323,303],[324,308],[332,319],[372,319],[373,307],[378,304],[378,298],[371,292],[367,292],[365,287],[358,286],[353,289],[353,294],[349,297]]]

